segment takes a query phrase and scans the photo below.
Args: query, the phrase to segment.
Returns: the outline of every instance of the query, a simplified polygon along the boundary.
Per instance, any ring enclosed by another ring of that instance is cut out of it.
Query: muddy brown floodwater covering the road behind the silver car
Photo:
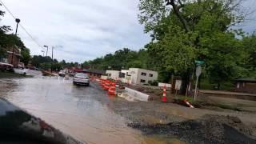
[[[128,127],[111,110],[111,98],[94,83],[73,86],[60,77],[0,79],[0,97],[82,142],[165,143]]]

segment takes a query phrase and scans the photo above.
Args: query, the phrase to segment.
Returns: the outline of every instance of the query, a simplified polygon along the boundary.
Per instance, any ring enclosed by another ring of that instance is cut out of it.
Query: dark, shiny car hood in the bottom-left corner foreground
[[[2,98],[0,137],[0,142],[7,143],[82,143]]]

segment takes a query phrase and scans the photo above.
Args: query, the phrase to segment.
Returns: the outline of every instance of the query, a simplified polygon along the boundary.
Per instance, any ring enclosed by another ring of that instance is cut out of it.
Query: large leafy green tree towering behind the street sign
[[[242,75],[240,65],[247,55],[235,37],[242,30],[229,29],[244,18],[238,13],[239,2],[170,0],[168,7],[163,0],[140,0],[139,21],[151,33],[153,41],[146,48],[158,71],[182,76],[183,91],[194,72],[194,60],[205,61],[210,78],[218,83]]]

